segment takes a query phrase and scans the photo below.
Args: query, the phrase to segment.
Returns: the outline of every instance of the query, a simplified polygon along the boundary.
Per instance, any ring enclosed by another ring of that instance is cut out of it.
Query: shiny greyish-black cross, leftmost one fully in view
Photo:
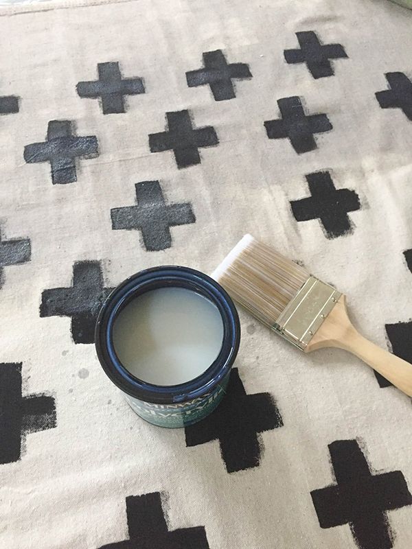
[[[53,185],[77,181],[76,158],[89,159],[99,154],[95,135],[77,137],[72,132],[71,121],[52,120],[47,126],[46,141],[31,143],[24,148],[24,159],[27,163],[50,163]]]

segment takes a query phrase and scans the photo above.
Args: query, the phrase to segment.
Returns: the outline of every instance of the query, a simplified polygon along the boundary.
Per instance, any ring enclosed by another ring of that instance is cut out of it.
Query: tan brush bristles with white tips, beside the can
[[[270,246],[245,235],[211,276],[270,327],[310,275]]]

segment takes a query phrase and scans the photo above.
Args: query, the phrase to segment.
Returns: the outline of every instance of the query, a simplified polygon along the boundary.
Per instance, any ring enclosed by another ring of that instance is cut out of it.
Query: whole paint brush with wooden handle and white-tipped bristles
[[[345,296],[273,248],[245,235],[212,274],[255,318],[305,353],[338,347],[412,397],[412,365],[356,331]]]

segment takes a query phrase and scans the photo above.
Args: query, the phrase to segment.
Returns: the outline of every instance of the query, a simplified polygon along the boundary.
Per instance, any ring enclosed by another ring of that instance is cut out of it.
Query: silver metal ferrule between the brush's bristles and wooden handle
[[[332,286],[310,276],[272,329],[304,351],[340,297]]]

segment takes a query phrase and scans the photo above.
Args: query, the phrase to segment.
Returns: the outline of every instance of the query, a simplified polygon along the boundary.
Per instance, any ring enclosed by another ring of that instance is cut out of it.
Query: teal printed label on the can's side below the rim
[[[134,412],[149,423],[159,427],[185,427],[200,421],[218,406],[225,395],[229,375],[207,395],[193,400],[176,402],[176,404],[153,404],[126,396],[126,400]]]

